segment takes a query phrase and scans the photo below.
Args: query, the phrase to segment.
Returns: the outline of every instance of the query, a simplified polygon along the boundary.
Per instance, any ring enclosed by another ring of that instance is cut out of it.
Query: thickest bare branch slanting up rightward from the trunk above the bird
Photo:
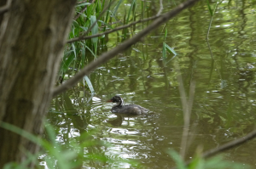
[[[114,56],[116,56],[119,53],[124,52],[126,49],[130,48],[131,45],[139,42],[143,37],[148,35],[150,31],[153,31],[160,25],[166,23],[168,20],[170,20],[172,17],[179,14],[184,8],[188,8],[195,2],[199,0],[188,0],[185,3],[181,3],[177,6],[177,8],[174,8],[172,11],[161,15],[158,19],[154,20],[153,23],[148,25],[143,31],[140,31],[136,36],[132,37],[129,40],[126,40],[122,44],[119,45],[119,47],[113,48],[112,50],[108,51],[107,53],[102,54],[100,57],[95,59],[94,61],[90,62],[89,65],[84,67],[83,70],[79,71],[73,78],[69,79],[66,83],[63,85],[56,87],[53,91],[53,96],[56,96],[64,91],[66,91],[68,88],[73,87],[79,82],[80,79],[83,78],[83,76],[88,75],[92,70],[95,70],[96,67],[99,65],[102,65],[106,63],[109,59],[112,59]]]

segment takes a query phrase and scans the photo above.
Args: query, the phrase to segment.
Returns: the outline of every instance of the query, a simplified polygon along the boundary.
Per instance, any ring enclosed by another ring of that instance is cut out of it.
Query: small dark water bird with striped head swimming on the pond
[[[124,99],[119,95],[113,96],[107,102],[117,103],[111,109],[112,113],[126,114],[126,115],[143,115],[148,113],[148,109],[137,105],[137,104],[126,104],[124,105]]]

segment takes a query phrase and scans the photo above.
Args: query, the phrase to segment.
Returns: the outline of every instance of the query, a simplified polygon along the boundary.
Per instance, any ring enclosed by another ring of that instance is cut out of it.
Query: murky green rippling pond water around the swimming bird
[[[175,7],[173,1],[164,3],[163,12]],[[211,3],[212,8],[214,4]],[[149,7],[159,8],[159,4],[148,2]],[[149,12],[154,14],[157,10]],[[253,131],[256,117],[255,2],[218,3],[207,42],[210,19],[207,3],[197,3],[167,25],[160,26],[143,42],[91,73],[89,78],[96,92],[93,96],[81,82],[53,99],[47,121],[57,128],[56,141],[68,144],[71,138],[80,140],[84,133],[94,131],[90,140],[110,144],[107,148],[102,145],[84,147],[84,155],[97,153],[116,161],[84,161],[84,168],[132,167],[120,159],[138,161],[143,168],[175,166],[167,151],[182,149],[184,121],[178,71],[187,96],[191,82],[195,82],[185,160],[195,156],[200,146],[204,150],[216,148]],[[147,24],[137,25],[132,33]],[[122,38],[108,35],[102,51],[114,48]],[[173,59],[173,54],[163,59],[163,42],[176,51]],[[125,104],[140,104],[150,113],[114,115],[110,111],[113,104],[106,101],[116,94],[125,99]],[[222,155],[226,160],[255,166],[253,149],[256,144],[250,141]]]

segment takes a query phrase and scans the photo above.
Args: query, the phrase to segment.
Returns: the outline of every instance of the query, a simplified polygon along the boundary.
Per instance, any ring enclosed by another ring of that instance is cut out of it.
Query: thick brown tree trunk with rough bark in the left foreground
[[[14,0],[0,25],[0,121],[41,133],[76,0]],[[0,168],[38,147],[0,128]]]

